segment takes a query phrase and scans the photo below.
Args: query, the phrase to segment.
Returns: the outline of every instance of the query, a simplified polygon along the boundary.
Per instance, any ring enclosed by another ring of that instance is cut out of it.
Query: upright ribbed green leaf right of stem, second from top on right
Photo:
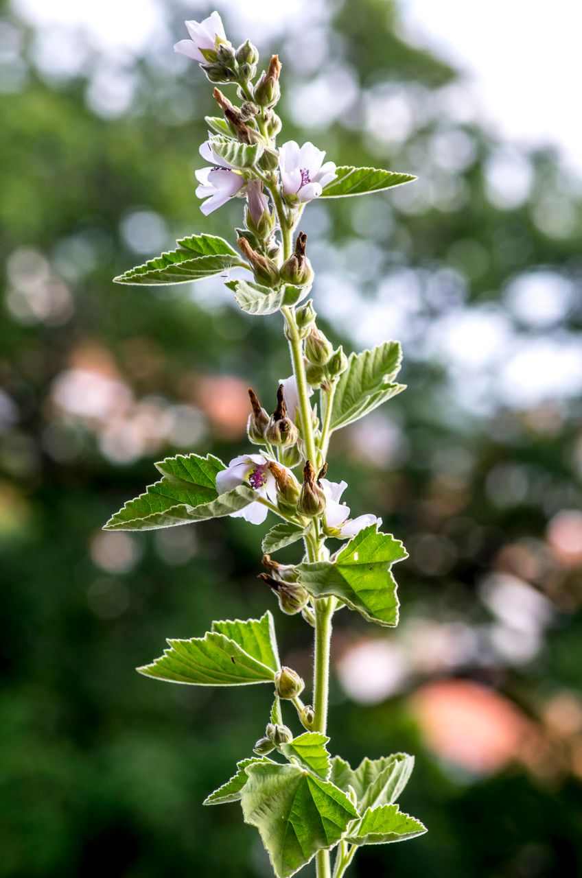
[[[339,377],[331,408],[331,430],[346,427],[404,390],[394,384],[400,371],[402,349],[398,342],[383,342],[372,350],[351,354]]]

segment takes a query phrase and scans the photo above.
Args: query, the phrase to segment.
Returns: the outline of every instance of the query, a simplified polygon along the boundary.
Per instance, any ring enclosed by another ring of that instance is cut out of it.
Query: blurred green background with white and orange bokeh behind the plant
[[[353,513],[381,514],[411,558],[396,631],[337,617],[330,728],[353,762],[417,754],[402,807],[430,831],[367,848],[354,876],[582,874],[582,187],[556,73],[578,55],[572,27],[520,3],[496,24],[490,5],[457,30],[450,3],[220,7],[233,42],[280,52],[287,138],[419,177],[305,216],[329,335],[399,338],[409,385],[331,454]],[[166,636],[272,606],[260,535],[100,529],[156,459],[243,450],[246,386],[273,397],[288,374],[278,321],[219,279],[111,282],[237,221],[239,203],[199,212],[210,89],[171,51],[211,9],[2,5],[2,876],[270,874],[236,805],[200,805],[262,733],[267,687],[133,670]],[[497,120],[468,50],[498,72]],[[536,87],[550,67],[553,94]],[[277,624],[309,674],[309,630]]]

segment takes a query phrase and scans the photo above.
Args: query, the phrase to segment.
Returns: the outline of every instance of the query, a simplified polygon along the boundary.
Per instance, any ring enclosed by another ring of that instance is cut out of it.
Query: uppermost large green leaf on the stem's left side
[[[114,277],[116,284],[186,284],[240,265],[241,259],[228,241],[215,234],[192,234],[182,238],[177,250],[163,253],[143,265]]]

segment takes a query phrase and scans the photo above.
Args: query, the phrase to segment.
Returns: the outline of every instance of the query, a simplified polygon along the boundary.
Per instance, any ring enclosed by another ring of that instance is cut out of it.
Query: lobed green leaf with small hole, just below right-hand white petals
[[[333,594],[368,622],[393,627],[398,624],[398,599],[390,567],[408,556],[399,540],[376,527],[360,530],[334,561],[303,563],[297,571],[314,597]]]

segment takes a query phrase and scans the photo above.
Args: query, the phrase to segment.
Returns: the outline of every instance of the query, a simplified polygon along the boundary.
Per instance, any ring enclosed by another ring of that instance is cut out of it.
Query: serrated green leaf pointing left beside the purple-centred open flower
[[[105,524],[105,530],[152,530],[202,522],[230,515],[257,499],[248,485],[219,494],[216,475],[225,466],[212,454],[178,454],[166,457],[156,468],[163,478],[135,500],[127,500]]]

